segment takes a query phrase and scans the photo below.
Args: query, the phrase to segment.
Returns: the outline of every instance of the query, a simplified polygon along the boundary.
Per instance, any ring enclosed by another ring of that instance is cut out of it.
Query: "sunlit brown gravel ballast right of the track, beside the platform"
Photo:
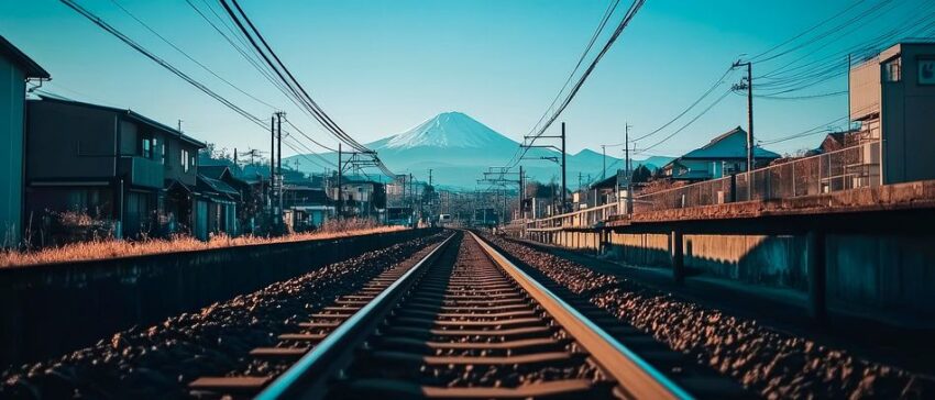
[[[732,376],[765,398],[935,396],[932,377],[855,357],[634,281],[596,273],[530,246],[487,236],[498,247],[672,349]]]

